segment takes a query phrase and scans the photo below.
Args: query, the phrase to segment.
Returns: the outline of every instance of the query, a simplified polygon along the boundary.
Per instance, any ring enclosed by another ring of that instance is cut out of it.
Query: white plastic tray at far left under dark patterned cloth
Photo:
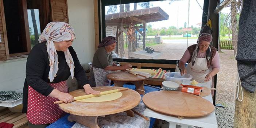
[[[15,92],[22,93],[22,91],[23,89],[19,89],[19,90],[16,90]],[[3,107],[12,108],[20,104],[22,104],[22,98],[18,100],[13,100],[13,99],[5,100],[5,101],[0,100],[0,106],[3,106]]]

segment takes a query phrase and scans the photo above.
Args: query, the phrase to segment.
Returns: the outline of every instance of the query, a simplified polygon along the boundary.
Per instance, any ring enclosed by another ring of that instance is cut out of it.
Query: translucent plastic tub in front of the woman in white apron
[[[179,85],[182,84],[183,80],[190,81],[192,79],[192,75],[186,74],[181,76],[181,73],[179,72],[166,73],[164,76],[166,81],[172,81]]]

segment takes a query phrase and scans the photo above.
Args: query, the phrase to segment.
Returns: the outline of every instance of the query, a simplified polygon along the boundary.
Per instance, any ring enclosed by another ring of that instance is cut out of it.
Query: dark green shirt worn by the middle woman
[[[109,65],[113,65],[113,58],[111,52],[108,53],[105,47],[98,48],[93,56],[92,67],[105,69]]]

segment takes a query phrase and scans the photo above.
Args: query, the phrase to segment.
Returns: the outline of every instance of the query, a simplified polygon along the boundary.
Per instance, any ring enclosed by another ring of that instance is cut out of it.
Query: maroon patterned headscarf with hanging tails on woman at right
[[[199,51],[199,43],[201,41],[207,41],[207,42],[212,42],[213,40],[213,36],[211,34],[208,34],[208,33],[202,33],[199,37],[198,37],[198,40],[197,40],[197,46],[195,47],[195,50],[193,51],[193,55],[191,57],[191,62],[192,62],[192,66],[194,66],[195,64],[195,58],[197,58],[197,54],[198,54],[198,51]],[[207,61],[210,60],[211,58],[211,47],[209,45],[209,48],[206,50],[206,59]]]

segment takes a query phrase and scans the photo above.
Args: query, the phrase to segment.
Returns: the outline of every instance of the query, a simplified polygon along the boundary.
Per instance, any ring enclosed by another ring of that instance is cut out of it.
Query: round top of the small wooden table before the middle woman
[[[131,73],[128,73],[126,71],[119,71],[119,72],[114,72],[114,73],[110,73],[107,75],[108,79],[111,79],[112,81],[125,81],[125,82],[129,82],[129,81],[143,81],[147,78],[150,78],[151,75],[149,73],[144,73],[144,72],[140,72],[140,71],[134,71],[136,73],[139,73],[141,75],[146,76],[142,77],[140,75],[133,75]]]

